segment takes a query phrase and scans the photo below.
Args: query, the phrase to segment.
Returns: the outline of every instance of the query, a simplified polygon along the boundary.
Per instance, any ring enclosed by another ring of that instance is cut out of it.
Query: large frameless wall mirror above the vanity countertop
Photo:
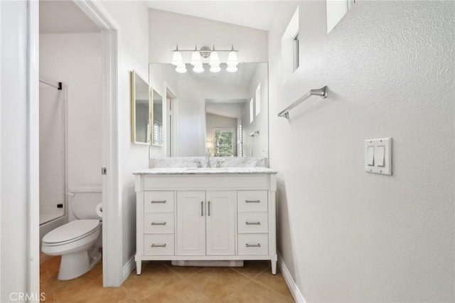
[[[210,73],[204,64],[203,73],[194,73],[188,64],[181,74],[171,64],[149,65],[149,82],[164,87],[166,96],[161,109],[164,145],[173,142],[166,146],[172,149],[168,155],[269,156],[267,63],[240,63],[236,73],[225,67]],[[172,88],[173,97],[165,87]]]

